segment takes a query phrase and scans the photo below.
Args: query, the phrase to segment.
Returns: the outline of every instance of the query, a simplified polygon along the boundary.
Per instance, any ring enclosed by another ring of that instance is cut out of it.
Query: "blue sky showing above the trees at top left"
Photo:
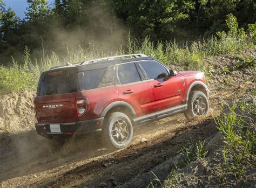
[[[53,3],[55,0],[48,0],[49,3]],[[26,0],[4,0],[6,8],[9,8],[9,6],[14,10],[18,17],[24,18],[26,10],[26,7],[28,6],[28,3]]]

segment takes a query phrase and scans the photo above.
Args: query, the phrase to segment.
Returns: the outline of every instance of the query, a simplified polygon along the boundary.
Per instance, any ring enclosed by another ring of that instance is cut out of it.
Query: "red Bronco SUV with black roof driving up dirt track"
[[[102,131],[109,147],[123,148],[140,124],[205,115],[208,96],[203,72],[177,73],[144,54],[68,63],[41,75],[36,130],[46,138]]]

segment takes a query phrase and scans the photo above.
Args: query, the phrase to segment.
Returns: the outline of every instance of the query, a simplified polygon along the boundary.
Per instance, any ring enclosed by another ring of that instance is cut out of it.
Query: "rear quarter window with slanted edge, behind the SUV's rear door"
[[[85,90],[97,88],[100,79],[105,72],[106,68],[93,69],[90,71],[84,71],[84,87]]]

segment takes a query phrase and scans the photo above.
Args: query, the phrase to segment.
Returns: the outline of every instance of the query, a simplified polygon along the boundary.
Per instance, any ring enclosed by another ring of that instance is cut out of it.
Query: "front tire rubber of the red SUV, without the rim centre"
[[[196,102],[195,100],[198,98],[203,100],[203,103],[205,104],[205,110],[203,112],[200,111],[201,113],[196,114],[193,110],[193,103]],[[187,120],[192,120],[194,117],[198,115],[206,115],[208,112],[208,109],[209,109],[209,102],[206,95],[203,92],[200,92],[199,90],[193,90],[190,93],[190,96],[188,97],[187,109],[184,112],[184,115]]]

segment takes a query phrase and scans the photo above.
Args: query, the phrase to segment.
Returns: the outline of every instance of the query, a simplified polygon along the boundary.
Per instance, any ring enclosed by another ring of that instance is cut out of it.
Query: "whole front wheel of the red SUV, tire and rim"
[[[199,90],[193,90],[188,97],[187,110],[184,112],[186,119],[192,120],[199,115],[206,115],[209,102],[206,95]]]

